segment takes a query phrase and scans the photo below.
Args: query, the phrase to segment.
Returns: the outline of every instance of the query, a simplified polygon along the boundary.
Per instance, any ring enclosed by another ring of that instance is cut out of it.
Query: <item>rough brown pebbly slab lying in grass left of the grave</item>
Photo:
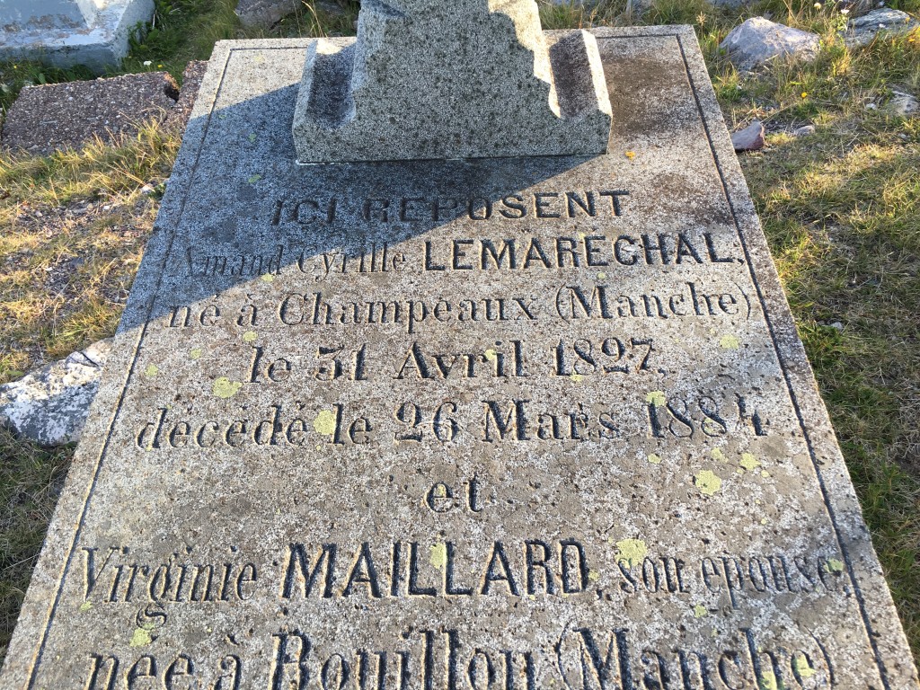
[[[166,72],[86,82],[26,86],[6,114],[6,149],[50,154],[96,137],[132,136],[144,121],[162,121],[176,105],[178,86]]]

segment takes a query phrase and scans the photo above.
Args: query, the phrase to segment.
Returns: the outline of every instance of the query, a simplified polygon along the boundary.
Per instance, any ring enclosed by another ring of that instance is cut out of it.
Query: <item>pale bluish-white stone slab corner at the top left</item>
[[[132,31],[153,16],[154,0],[2,0],[0,59],[101,73],[121,63]]]

